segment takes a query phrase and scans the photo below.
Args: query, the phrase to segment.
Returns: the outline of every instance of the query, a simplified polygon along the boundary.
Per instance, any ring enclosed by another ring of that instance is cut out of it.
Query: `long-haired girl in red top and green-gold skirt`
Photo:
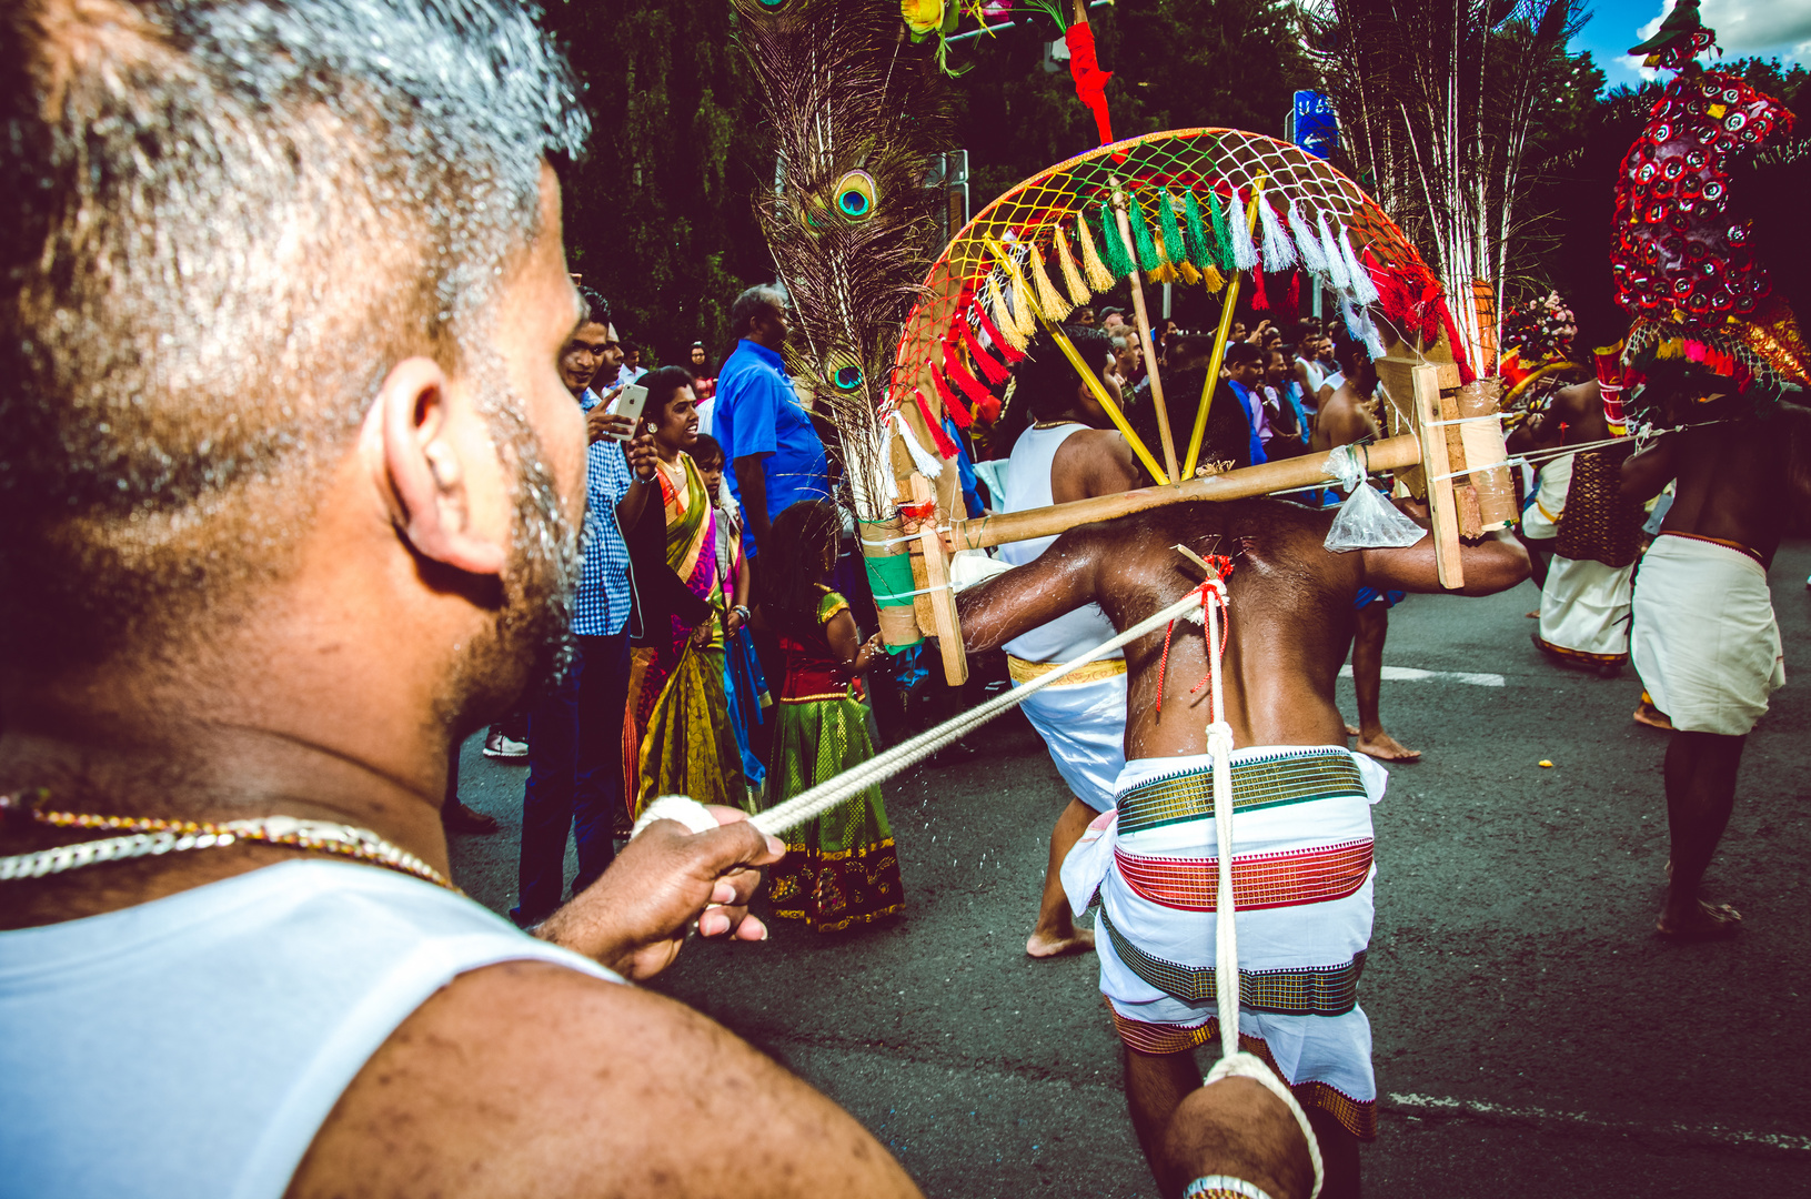
[[[793,504],[761,543],[757,628],[786,656],[773,724],[768,806],[806,791],[875,753],[862,674],[880,659],[880,634],[860,641],[849,603],[824,587],[837,565],[842,518],[828,500]],[[786,858],[770,873],[775,916],[819,933],[891,916],[906,907],[898,853],[880,788],[871,786],[786,833]]]

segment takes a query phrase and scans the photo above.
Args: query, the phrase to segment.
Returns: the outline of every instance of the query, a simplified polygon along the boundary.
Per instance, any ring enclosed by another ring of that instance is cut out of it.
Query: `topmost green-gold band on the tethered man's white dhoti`
[[[1349,750],[1291,750],[1233,763],[1233,811],[1277,808],[1315,799],[1365,797],[1364,775]],[[1119,835],[1213,815],[1213,768],[1195,766],[1141,782],[1119,795]],[[1241,906],[1244,906],[1241,902]]]

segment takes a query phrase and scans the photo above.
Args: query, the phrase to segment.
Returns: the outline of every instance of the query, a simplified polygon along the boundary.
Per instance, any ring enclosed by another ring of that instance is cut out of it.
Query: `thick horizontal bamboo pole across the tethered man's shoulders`
[[[1422,460],[1422,444],[1413,433],[1391,436],[1375,446],[1360,447],[1365,471],[1394,471]],[[1110,496],[1052,504],[1050,507],[1007,513],[1005,516],[978,516],[949,525],[951,549],[985,549],[1007,542],[1029,542],[1067,532],[1076,525],[1099,520],[1117,520],[1164,504],[1188,500],[1246,500],[1279,491],[1298,491],[1318,484],[1335,484],[1338,476],[1327,471],[1329,455],[1304,455],[1280,462],[1260,462],[1224,475],[1184,478],[1163,487],[1123,491]]]

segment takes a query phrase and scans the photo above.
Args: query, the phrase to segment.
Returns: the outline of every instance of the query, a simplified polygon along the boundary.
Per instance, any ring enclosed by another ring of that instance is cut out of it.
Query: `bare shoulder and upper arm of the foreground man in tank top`
[[[913,1195],[846,1112],[639,987],[462,974],[371,1056],[290,1195]]]

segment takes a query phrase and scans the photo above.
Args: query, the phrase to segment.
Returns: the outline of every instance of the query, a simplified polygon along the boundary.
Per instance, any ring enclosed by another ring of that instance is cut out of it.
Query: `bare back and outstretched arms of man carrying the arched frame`
[[[1036,561],[960,600],[967,648],[992,648],[1061,612],[1097,601],[1117,628],[1145,619],[1195,589],[1203,572],[1172,549],[1233,558],[1231,619],[1222,672],[1233,743],[1346,744],[1333,683],[1353,634],[1358,587],[1442,590],[1433,543],[1333,554],[1322,545],[1333,513],[1277,500],[1174,504],[1125,520],[1065,532]],[[1519,545],[1487,540],[1465,551],[1467,594],[1489,594],[1527,578]],[[1164,636],[1126,647],[1126,757],[1177,757],[1206,750],[1210,719],[1206,638],[1177,621]],[[1163,712],[1157,712],[1159,676]]]

